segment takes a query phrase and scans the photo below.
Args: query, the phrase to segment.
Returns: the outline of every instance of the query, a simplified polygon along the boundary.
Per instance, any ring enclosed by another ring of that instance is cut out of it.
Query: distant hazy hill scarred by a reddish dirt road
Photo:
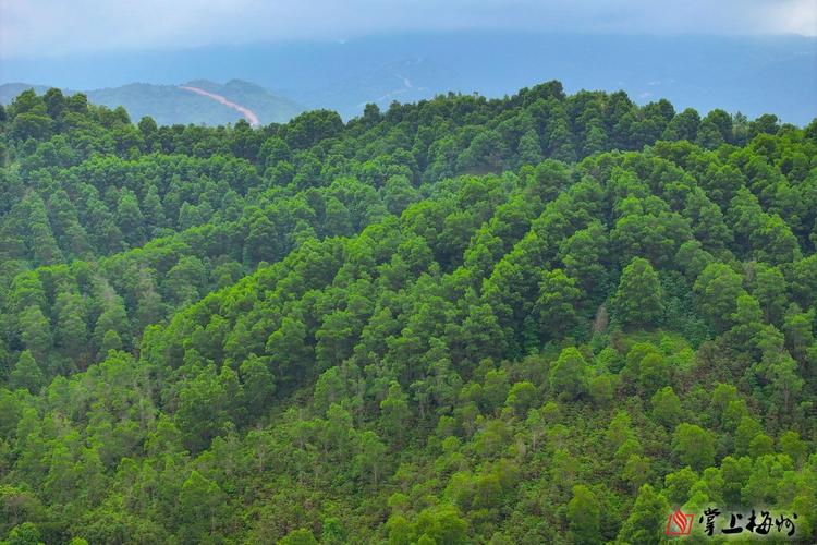
[[[48,89],[42,85],[4,84],[0,85],[0,101],[9,104],[27,88],[34,88],[38,94]],[[211,96],[196,93],[195,89],[204,90]],[[63,90],[73,93],[71,89]],[[304,110],[304,107],[289,98],[240,80],[232,80],[223,85],[206,80],[196,80],[183,85],[131,83],[83,93],[94,104],[109,108],[124,107],[134,121],[150,116],[159,124],[220,125],[235,123],[240,119],[252,122],[254,117],[263,124],[281,123]],[[222,97],[227,104],[220,102],[214,98],[215,96]],[[242,109],[248,111],[249,117],[242,112]]]

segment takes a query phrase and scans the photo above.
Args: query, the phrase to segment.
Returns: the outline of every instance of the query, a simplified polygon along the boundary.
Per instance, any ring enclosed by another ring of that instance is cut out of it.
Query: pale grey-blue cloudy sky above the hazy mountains
[[[817,0],[0,0],[0,57],[394,31],[817,35]]]

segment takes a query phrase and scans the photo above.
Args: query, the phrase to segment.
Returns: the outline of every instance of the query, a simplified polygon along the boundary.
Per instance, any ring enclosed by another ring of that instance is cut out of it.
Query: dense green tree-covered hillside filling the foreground
[[[550,82],[0,129],[0,543],[817,541],[817,122]]]

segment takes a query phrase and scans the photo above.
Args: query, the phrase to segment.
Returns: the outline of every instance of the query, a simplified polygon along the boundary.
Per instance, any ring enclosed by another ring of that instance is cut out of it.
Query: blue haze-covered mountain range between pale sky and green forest
[[[668,98],[676,108],[702,113],[716,107],[751,118],[773,112],[803,125],[817,116],[817,39],[467,31],[13,59],[0,68],[1,82],[100,89],[88,93],[93,101],[112,106],[126,99],[138,105],[129,108],[132,118],[146,112],[159,122],[193,119],[191,111],[215,108],[206,98],[178,89],[202,78],[257,84],[222,90],[263,109],[263,122],[313,108],[351,118],[366,102],[387,108],[394,100],[448,92],[499,97],[558,78],[569,92],[624,89],[639,104]],[[172,100],[162,104],[169,97],[181,100],[178,112],[168,106]],[[221,109],[203,122],[241,117]]]

